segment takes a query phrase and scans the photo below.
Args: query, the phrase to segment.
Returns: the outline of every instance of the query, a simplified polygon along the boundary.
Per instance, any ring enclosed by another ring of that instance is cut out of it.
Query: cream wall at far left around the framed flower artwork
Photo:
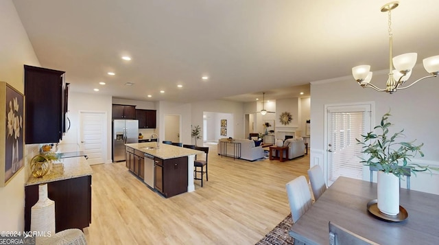
[[[24,93],[23,65],[40,66],[34,49],[10,0],[0,1],[0,81],[8,82]],[[0,113],[5,115],[5,108]],[[0,146],[0,147],[4,147]],[[27,155],[33,156],[35,145],[26,145]],[[1,160],[3,161],[3,160]],[[25,165],[27,167],[28,165]],[[21,170],[5,187],[0,187],[0,231],[23,231],[27,172]]]

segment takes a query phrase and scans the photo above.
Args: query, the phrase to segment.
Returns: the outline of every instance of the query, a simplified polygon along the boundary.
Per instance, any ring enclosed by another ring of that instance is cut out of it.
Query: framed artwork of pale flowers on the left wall
[[[6,82],[0,82],[0,187],[4,187],[24,166],[24,96]]]

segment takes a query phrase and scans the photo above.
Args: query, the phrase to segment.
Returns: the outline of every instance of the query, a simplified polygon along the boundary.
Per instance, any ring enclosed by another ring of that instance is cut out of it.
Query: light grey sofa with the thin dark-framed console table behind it
[[[227,138],[222,138],[218,140],[217,150],[218,154],[226,154],[226,149],[224,148],[224,145],[226,145],[227,148],[227,155],[233,157],[233,143],[221,143],[221,141],[228,141]],[[261,145],[255,146],[254,141],[252,139],[233,139],[233,142],[235,143],[241,143],[241,159],[248,160],[248,161],[256,161],[258,159],[264,158],[264,152]],[[237,153],[238,154],[238,153]]]

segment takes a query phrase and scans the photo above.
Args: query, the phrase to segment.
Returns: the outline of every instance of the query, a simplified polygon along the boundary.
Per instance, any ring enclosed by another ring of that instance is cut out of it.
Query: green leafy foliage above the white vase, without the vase
[[[364,165],[376,167],[377,170],[385,173],[392,173],[401,178],[408,170],[416,176],[416,172],[424,172],[437,170],[436,167],[421,166],[412,161],[410,158],[419,154],[424,156],[420,148],[424,143],[415,145],[414,141],[396,142],[396,139],[404,137],[403,131],[389,134],[389,128],[392,124],[388,121],[390,112],[385,113],[381,118],[381,123],[375,126],[372,132],[367,135],[361,135],[362,141],[359,139],[357,143],[363,145],[361,153],[368,154],[368,159],[361,159]],[[375,132],[378,131],[378,132]]]

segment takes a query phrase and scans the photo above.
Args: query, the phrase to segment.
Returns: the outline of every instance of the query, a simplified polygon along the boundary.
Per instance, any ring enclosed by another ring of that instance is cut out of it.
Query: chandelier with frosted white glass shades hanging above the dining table
[[[439,56],[431,56],[429,58],[425,58],[423,60],[423,65],[425,70],[431,75],[427,75],[423,78],[419,78],[418,80],[412,82],[407,86],[401,86],[404,84],[412,75],[412,69],[414,65],[416,65],[416,58],[418,54],[416,53],[407,53],[401,54],[399,56],[395,56],[392,59],[392,17],[391,12],[394,8],[398,7],[399,2],[393,1],[391,3],[387,3],[383,5],[381,8],[381,12],[388,12],[388,32],[390,39],[390,49],[389,49],[389,78],[387,80],[386,88],[379,89],[379,87],[374,84],[370,84],[370,80],[372,80],[372,71],[370,71],[370,65],[359,65],[357,67],[353,67],[352,74],[355,80],[358,82],[360,86],[363,88],[372,88],[379,92],[387,92],[393,93],[399,89],[408,89],[416,82],[423,80],[425,78],[434,78],[439,74]],[[395,69],[393,69],[393,67]]]

